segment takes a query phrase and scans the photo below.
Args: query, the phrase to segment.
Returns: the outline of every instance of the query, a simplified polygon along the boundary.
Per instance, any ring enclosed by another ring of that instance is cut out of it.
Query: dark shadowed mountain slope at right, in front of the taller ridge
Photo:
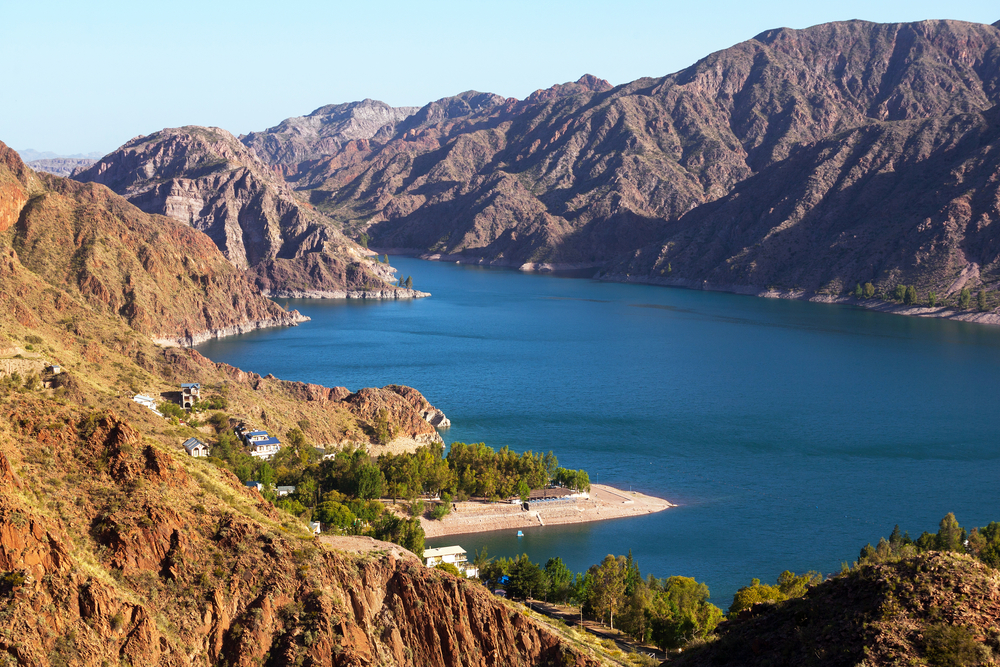
[[[870,123],[793,150],[611,271],[829,295],[865,282],[940,297],[996,289],[998,151],[997,107]]]

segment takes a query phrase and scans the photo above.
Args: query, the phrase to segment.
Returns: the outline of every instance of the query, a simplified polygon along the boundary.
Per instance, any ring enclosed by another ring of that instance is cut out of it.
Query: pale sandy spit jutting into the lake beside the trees
[[[427,537],[621,519],[674,507],[662,498],[604,484],[592,484],[590,498],[532,503],[530,510],[510,503],[464,502],[456,505],[457,509],[440,521],[426,517],[420,520]]]

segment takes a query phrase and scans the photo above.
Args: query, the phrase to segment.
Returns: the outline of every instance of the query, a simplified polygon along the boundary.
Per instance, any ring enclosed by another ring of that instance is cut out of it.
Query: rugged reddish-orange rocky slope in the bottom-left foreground
[[[77,422],[23,408],[16,445],[0,429],[0,460],[13,457],[11,474],[27,488],[58,489],[48,497],[61,509],[41,513],[0,485],[0,656],[40,665],[598,664],[479,584],[400,547],[342,537],[341,551],[293,523],[276,529],[273,507],[228,473],[175,459],[114,415]],[[42,452],[44,467],[28,463]]]

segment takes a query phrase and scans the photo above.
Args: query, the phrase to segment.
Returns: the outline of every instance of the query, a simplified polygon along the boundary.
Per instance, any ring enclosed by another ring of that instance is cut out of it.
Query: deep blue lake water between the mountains
[[[429,299],[288,301],[312,318],[201,345],[351,390],[420,389],[446,442],[555,451],[679,507],[430,540],[583,570],[628,549],[727,607],[752,577],[824,573],[894,524],[1000,519],[1000,328],[394,257]],[[285,303],[282,301],[282,303]]]

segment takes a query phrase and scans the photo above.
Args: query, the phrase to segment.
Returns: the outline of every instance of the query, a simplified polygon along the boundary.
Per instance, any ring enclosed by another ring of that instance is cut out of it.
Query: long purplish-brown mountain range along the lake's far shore
[[[662,78],[364,100],[242,140],[379,249],[749,293],[955,295],[1000,283],[998,87],[996,24],[847,21]]]

